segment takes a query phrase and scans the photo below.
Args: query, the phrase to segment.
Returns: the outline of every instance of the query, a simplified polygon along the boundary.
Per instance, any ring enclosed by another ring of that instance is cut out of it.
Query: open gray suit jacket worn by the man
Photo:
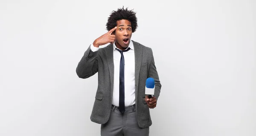
[[[154,78],[154,96],[156,98],[160,95],[161,84],[154,64],[152,49],[135,41],[132,42],[135,55],[136,115],[139,126],[144,128],[152,124],[149,108],[145,102],[146,79]],[[98,88],[90,119],[92,122],[105,124],[110,117],[113,95],[113,44],[100,48],[96,52],[92,52],[89,46],[76,68],[79,78],[89,78],[96,72],[98,72]]]

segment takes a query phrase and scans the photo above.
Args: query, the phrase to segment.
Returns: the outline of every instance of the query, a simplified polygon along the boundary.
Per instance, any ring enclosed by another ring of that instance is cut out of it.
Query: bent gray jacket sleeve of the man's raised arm
[[[76,67],[76,74],[79,78],[89,78],[98,72],[98,52],[99,51],[93,52],[90,46],[84,52],[84,56]]]

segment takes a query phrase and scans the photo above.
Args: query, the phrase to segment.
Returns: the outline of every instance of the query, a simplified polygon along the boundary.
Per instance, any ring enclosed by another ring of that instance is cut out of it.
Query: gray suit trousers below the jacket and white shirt
[[[124,114],[112,105],[108,122],[101,125],[101,136],[149,136],[149,127],[139,127],[135,104],[125,107]]]

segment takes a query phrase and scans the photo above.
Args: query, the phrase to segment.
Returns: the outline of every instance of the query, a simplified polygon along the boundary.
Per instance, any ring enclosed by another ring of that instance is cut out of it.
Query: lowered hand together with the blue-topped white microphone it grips
[[[145,87],[145,101],[149,108],[154,108],[157,106],[157,99],[154,95],[154,78],[147,78]]]

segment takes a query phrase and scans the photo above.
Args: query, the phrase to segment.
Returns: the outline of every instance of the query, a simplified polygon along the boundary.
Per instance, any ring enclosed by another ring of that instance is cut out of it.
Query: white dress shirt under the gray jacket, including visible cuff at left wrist
[[[129,46],[131,49],[123,52],[125,59],[125,106],[135,104],[135,57],[134,45],[130,41]],[[113,44],[113,62],[114,62],[114,83],[113,83],[113,99],[112,104],[119,107],[119,68],[121,53],[116,50],[116,44]],[[93,52],[99,50],[91,44],[90,49]]]

